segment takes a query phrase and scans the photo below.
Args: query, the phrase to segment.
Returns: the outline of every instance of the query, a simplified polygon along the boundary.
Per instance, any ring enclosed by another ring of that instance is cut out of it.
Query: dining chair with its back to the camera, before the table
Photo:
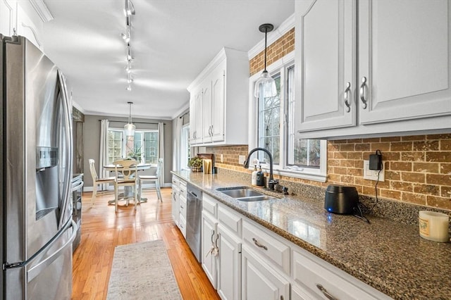
[[[137,194],[136,194],[136,175],[137,175],[137,164],[138,162],[135,160],[120,160],[114,161],[114,171],[116,180],[114,182],[114,203],[115,203],[115,211],[118,211],[118,189],[119,187],[124,187],[124,199],[127,198],[127,203],[125,206],[128,206],[128,199],[130,198],[130,194],[127,194],[126,187],[132,187],[132,195],[133,201],[135,203],[135,210],[137,204]]]

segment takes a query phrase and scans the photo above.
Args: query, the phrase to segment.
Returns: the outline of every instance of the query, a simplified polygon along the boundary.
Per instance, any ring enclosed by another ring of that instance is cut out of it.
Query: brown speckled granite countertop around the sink
[[[415,225],[328,213],[309,195],[237,201],[216,189],[249,182],[227,174],[173,174],[394,299],[451,299],[451,244],[421,238]]]

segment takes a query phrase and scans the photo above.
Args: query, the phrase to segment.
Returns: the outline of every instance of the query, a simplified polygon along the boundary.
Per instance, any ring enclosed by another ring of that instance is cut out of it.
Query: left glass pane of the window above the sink
[[[259,99],[259,147],[273,156],[273,164],[280,162],[280,73],[273,76],[277,95]],[[268,156],[259,152],[259,161],[269,163]]]

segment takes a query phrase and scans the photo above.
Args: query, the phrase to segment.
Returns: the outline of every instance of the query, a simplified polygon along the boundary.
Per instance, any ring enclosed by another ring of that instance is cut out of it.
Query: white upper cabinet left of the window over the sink
[[[248,83],[247,53],[223,48],[188,87],[192,146],[247,143]]]

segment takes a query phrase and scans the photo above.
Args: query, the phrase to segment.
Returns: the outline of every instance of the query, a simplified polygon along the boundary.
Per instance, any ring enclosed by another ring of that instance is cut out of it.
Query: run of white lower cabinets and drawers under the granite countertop
[[[205,193],[202,268],[221,299],[390,299]]]

